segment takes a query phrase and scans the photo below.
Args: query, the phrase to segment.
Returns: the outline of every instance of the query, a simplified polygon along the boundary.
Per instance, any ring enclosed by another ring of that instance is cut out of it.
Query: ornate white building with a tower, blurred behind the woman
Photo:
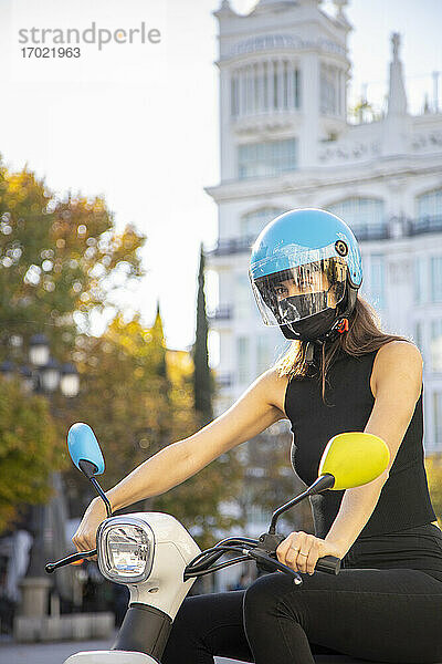
[[[219,21],[221,181],[207,191],[219,207],[219,238],[207,251],[218,274],[217,412],[287,347],[264,328],[248,279],[250,248],[276,215],[297,207],[343,217],[360,241],[362,295],[385,329],[412,338],[424,357],[425,449],[442,453],[442,114],[438,77],[423,112],[408,110],[400,56],[391,37],[382,110],[361,98],[350,113],[347,87],[351,27],[346,0],[335,14],[318,0],[260,0],[246,15],[229,0]],[[287,448],[288,423],[260,436]],[[276,436],[276,440],[275,440]],[[269,474],[246,446],[250,486]],[[249,489],[248,489],[249,490]],[[251,491],[253,495],[253,490]],[[250,528],[264,522],[249,504]]]

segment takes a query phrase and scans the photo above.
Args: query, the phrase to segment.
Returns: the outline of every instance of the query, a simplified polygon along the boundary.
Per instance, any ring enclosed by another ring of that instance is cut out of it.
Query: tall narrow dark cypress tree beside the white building
[[[204,252],[201,245],[200,266],[198,272],[197,330],[193,344],[193,391],[194,409],[200,414],[202,423],[208,423],[213,417],[213,386],[209,367],[208,333],[209,323],[206,312],[204,295]]]

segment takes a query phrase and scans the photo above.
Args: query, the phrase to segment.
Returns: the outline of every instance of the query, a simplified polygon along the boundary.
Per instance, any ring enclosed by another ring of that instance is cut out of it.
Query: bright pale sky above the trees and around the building
[[[199,247],[217,239],[217,206],[204,187],[219,183],[212,11],[220,3],[0,0],[3,160],[10,169],[27,164],[60,196],[103,195],[118,228],[134,224],[147,236],[146,276],[118,301],[150,324],[159,300],[167,344],[175,349],[193,341]],[[241,13],[254,3],[231,0]],[[328,1],[323,8],[334,11]],[[398,31],[410,107],[419,112],[424,92],[431,98],[431,72],[442,70],[441,0],[351,0],[346,13],[354,27],[350,97],[357,100],[366,83],[368,98],[381,104],[389,39]],[[141,44],[134,32],[131,44],[86,44],[80,58],[27,58],[22,49],[33,44],[19,43],[19,31],[30,40],[33,27],[85,30],[95,23],[96,31],[128,35],[141,22],[151,41]],[[208,298],[213,307],[212,288]],[[104,324],[96,320],[97,333]]]

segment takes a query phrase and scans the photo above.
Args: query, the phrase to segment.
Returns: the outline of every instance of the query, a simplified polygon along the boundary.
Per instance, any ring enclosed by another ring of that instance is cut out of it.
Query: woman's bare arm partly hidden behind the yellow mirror
[[[376,508],[389,470],[413,416],[422,387],[422,357],[411,343],[394,341],[376,359],[375,405],[365,432],[382,438],[390,449],[387,470],[373,481],[347,489],[339,512],[325,538],[345,556]]]

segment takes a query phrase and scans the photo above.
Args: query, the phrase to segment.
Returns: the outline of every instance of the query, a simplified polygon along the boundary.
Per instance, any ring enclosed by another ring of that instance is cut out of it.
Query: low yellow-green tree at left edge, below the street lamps
[[[20,502],[50,496],[49,475],[62,450],[46,401],[23,393],[18,381],[0,381],[0,532]]]

